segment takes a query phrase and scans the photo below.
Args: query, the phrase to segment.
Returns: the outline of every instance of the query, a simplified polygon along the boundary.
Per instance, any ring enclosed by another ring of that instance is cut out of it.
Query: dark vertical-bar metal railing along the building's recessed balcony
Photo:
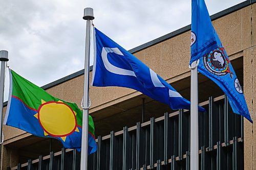
[[[232,112],[225,95],[200,104],[200,169],[243,169],[243,117]],[[165,113],[134,127],[98,136],[88,169],[189,169],[189,111]],[[62,149],[9,169],[79,169],[80,153]]]

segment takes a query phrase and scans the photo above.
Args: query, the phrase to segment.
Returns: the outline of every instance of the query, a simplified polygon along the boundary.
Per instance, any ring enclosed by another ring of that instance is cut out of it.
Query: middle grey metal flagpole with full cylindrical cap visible
[[[80,170],[88,167],[88,115],[89,115],[89,74],[90,74],[90,34],[91,20],[94,19],[93,9],[85,8],[83,19],[86,21],[86,52],[84,60],[84,88],[83,88],[83,115],[82,115],[82,143]]]

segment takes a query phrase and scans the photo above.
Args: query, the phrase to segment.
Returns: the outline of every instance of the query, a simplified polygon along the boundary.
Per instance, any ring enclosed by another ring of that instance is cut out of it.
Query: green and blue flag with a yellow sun
[[[9,69],[10,90],[4,125],[35,136],[59,140],[63,147],[81,151],[82,111],[75,103],[54,98],[44,89]],[[88,154],[97,151],[94,123],[89,115]]]

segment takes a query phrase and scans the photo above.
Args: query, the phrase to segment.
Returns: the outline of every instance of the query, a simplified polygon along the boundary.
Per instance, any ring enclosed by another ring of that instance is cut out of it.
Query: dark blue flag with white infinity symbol
[[[96,28],[92,85],[132,88],[172,109],[190,109],[190,102],[172,86]]]

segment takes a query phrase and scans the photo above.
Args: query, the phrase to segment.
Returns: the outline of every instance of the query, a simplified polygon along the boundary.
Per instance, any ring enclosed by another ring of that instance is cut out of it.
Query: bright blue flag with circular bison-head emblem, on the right
[[[190,64],[198,59],[199,72],[224,91],[234,113],[241,114],[252,123],[243,90],[212,26],[204,0],[192,0]]]

